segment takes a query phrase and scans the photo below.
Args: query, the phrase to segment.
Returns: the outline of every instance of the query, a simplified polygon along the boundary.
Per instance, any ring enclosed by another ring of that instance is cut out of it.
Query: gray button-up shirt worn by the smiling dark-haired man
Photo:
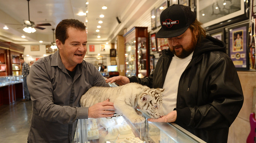
[[[79,107],[80,97],[90,87],[109,87],[93,64],[83,61],[76,68],[73,80],[59,51],[32,65],[27,77],[32,99],[29,143],[72,142],[77,119],[88,118],[88,107]]]

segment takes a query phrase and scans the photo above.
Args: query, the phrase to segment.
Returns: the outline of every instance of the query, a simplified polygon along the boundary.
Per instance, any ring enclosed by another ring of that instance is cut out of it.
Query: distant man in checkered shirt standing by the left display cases
[[[22,75],[23,75],[23,90],[24,90],[24,99],[21,101],[29,101],[30,100],[30,94],[29,89],[27,86],[27,76],[29,75],[30,67],[29,65],[24,61],[23,57],[19,58],[20,63],[22,64]]]

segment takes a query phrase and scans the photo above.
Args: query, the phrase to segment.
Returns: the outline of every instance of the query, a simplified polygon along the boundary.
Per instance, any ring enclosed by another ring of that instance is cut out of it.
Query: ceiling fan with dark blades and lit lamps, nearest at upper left
[[[29,1],[28,1],[28,11],[29,11]],[[30,16],[29,16],[29,20],[24,20],[24,24],[13,24],[13,25],[23,25],[25,26],[25,28],[23,29],[23,31],[27,32],[27,33],[33,33],[35,32],[35,28],[38,29],[45,29],[44,27],[40,27],[40,26],[51,26],[50,23],[44,23],[44,24],[35,24],[34,22],[30,21]]]

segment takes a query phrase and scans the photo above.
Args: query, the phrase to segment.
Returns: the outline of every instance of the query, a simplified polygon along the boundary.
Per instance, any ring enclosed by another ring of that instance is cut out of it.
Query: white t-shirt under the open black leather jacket
[[[173,111],[174,108],[176,108],[180,77],[189,62],[191,61],[193,53],[194,52],[192,52],[189,56],[185,58],[179,58],[175,55],[172,58],[163,84],[164,91],[162,93],[162,101],[164,115],[167,115],[168,113]]]

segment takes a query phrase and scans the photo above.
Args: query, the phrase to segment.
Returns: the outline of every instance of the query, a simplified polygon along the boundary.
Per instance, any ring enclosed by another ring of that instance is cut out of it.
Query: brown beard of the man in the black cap
[[[197,44],[197,39],[192,39],[192,41],[189,43],[187,48],[184,49],[182,45],[177,45],[177,46],[173,46],[172,49],[170,48],[170,51],[175,56],[177,56],[179,58],[185,58],[185,57],[189,56],[195,50],[196,44]],[[176,52],[175,51],[176,47],[181,47],[181,51],[180,52]]]

